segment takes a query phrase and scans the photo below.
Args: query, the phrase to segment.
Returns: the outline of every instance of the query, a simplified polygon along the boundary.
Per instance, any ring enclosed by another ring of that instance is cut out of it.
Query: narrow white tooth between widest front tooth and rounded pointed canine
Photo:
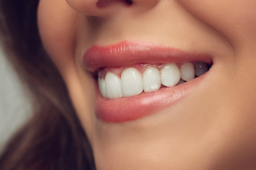
[[[145,92],[157,91],[161,86],[159,69],[147,68],[143,73],[143,86]]]

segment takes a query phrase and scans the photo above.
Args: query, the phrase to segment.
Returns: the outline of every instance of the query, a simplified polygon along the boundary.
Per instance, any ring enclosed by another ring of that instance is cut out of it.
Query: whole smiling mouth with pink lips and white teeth
[[[106,123],[136,120],[174,105],[196,89],[213,64],[210,55],[132,41],[92,46],[82,60],[98,74],[95,115]]]

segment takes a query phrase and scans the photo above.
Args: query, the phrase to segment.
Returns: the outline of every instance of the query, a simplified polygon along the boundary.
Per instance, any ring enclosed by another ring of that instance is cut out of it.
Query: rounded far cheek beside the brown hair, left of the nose
[[[43,46],[64,79],[74,64],[76,16],[66,1],[43,0],[38,6],[38,29]]]

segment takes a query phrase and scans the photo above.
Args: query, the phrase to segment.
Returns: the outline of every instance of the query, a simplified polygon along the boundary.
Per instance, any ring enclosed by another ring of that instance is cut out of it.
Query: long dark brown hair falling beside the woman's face
[[[28,89],[33,118],[4,149],[0,169],[95,169],[67,89],[38,35],[36,0],[0,0],[0,35]]]

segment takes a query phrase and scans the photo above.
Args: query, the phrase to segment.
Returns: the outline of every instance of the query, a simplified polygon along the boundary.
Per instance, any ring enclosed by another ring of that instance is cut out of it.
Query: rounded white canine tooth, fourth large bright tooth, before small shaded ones
[[[181,79],[181,72],[174,63],[164,64],[161,69],[161,84],[164,86],[175,86]]]

